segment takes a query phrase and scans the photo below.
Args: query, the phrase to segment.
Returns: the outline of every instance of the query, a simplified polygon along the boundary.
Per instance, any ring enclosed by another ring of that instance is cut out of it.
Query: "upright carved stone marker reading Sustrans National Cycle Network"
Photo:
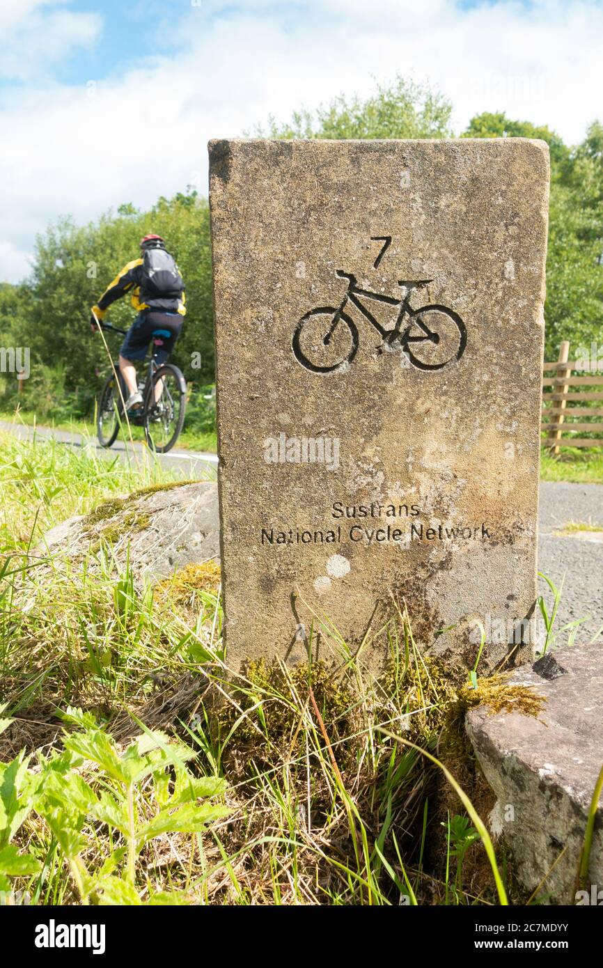
[[[312,630],[378,671],[394,602],[451,661],[478,622],[480,671],[521,656],[546,144],[209,147],[228,664],[302,659]]]

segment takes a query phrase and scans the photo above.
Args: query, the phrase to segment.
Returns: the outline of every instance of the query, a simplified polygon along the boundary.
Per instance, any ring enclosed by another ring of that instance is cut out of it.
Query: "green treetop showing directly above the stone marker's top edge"
[[[343,94],[316,111],[296,111],[278,125],[271,119],[269,137],[447,137],[451,136],[452,105],[428,84],[401,75],[390,85],[377,85],[377,93],[361,100]],[[261,129],[258,134],[263,135]]]

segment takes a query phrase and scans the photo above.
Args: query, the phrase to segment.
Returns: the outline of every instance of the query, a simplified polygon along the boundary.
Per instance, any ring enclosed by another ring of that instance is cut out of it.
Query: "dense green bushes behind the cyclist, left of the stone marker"
[[[138,257],[140,236],[150,230],[166,238],[187,290],[188,315],[174,362],[190,380],[213,377],[209,211],[194,189],[160,198],[149,212],[120,205],[116,215],[108,213],[87,226],[61,219],[38,237],[29,280],[22,287],[0,289],[2,332],[14,334],[16,345],[31,348],[33,374],[44,367],[62,368],[69,391],[81,387],[89,392],[98,384],[95,375],[105,373],[108,361],[102,339],[88,328],[90,308],[117,272]],[[128,296],[110,308],[108,319],[116,326],[127,328],[133,318]],[[112,350],[118,339],[107,334]]]

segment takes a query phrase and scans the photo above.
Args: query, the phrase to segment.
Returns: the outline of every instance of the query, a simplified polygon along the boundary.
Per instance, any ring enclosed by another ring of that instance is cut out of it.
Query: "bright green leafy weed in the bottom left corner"
[[[89,712],[70,709],[65,719],[75,731],[64,730],[63,752],[51,753],[41,770],[29,769],[23,753],[0,764],[0,892],[10,891],[10,878],[42,870],[37,858],[19,854],[9,843],[35,809],[58,846],[80,903],[185,903],[178,892],[147,895],[141,855],[166,833],[202,832],[226,816],[222,804],[198,802],[222,796],[225,781],[194,776],[186,762],[195,751],[159,731],[144,729],[122,751]],[[106,855],[92,868],[84,854],[90,828],[98,824],[109,837]]]

